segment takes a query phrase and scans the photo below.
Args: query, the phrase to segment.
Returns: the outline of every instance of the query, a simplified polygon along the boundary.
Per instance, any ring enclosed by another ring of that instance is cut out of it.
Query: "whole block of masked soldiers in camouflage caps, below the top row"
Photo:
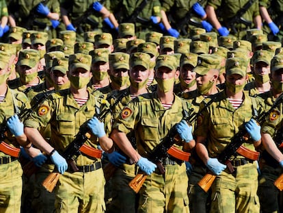
[[[0,44],[0,212],[280,212],[282,44],[258,29],[141,40],[119,26],[114,41],[64,31],[27,32],[18,54]],[[219,155],[237,137],[228,164]]]

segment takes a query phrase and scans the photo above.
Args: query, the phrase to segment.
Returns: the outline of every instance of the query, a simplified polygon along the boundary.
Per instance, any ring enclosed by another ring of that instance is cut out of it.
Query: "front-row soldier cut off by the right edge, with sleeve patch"
[[[271,84],[272,88],[269,92],[260,94],[259,96],[265,100],[265,108],[269,110],[276,98],[282,95],[283,87],[283,57],[275,55],[271,60]],[[260,167],[261,176],[258,185],[258,196],[260,198],[260,209],[262,212],[282,212],[282,192],[273,184],[283,173],[283,152],[278,145],[282,142],[282,112],[283,103],[275,108],[265,123],[262,125],[262,145],[265,151],[261,155]],[[275,141],[276,134],[279,134],[278,141]],[[275,144],[277,142],[277,145]],[[278,164],[279,162],[279,164]]]

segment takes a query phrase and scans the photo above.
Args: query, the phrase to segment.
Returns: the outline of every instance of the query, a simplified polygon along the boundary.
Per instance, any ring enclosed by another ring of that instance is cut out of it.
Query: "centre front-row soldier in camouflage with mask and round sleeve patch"
[[[157,92],[137,97],[122,110],[113,125],[113,140],[148,175],[139,190],[138,212],[189,212],[185,164],[176,158],[165,158],[162,161],[165,174],[161,174],[156,164],[148,160],[152,150],[176,123],[183,148],[191,149],[195,144],[191,127],[182,120],[190,105],[173,93],[177,66],[174,55],[159,55],[155,66]],[[126,138],[133,129],[137,151]]]

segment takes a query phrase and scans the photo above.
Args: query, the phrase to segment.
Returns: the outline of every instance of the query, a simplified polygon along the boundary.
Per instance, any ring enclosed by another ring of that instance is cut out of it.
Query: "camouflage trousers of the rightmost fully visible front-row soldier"
[[[228,168],[218,175],[212,186],[211,212],[258,213],[260,210],[258,196],[257,164],[237,166],[230,174]]]

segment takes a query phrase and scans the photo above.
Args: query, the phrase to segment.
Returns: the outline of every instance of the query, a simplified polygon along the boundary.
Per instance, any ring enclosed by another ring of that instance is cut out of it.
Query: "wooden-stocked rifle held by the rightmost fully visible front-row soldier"
[[[269,115],[272,110],[274,108],[276,108],[280,103],[283,102],[283,94],[280,95],[280,97],[278,97],[278,99],[276,99],[273,103],[273,105],[271,106],[270,110],[268,110],[267,112],[263,112],[262,114],[260,114],[260,116],[258,116],[258,118],[256,119],[259,125],[262,125],[262,123],[265,121],[265,118],[267,115]],[[217,160],[221,163],[221,164],[226,164],[227,167],[230,170],[230,173],[234,172],[234,168],[230,162],[230,158],[232,155],[236,155],[238,150],[241,149],[241,145],[248,140],[248,133],[247,130],[245,128],[243,128],[241,131],[238,131],[238,133],[232,138],[231,142],[225,147],[224,151],[222,151],[218,157]],[[251,160],[257,160],[257,159],[252,159]],[[211,188],[211,185],[213,184],[213,181],[215,180],[215,177],[217,175],[208,172],[206,173],[206,175],[204,175],[204,177],[202,177],[202,179],[198,182],[198,185],[200,186],[200,188],[202,188],[205,192],[208,191],[209,188]]]

